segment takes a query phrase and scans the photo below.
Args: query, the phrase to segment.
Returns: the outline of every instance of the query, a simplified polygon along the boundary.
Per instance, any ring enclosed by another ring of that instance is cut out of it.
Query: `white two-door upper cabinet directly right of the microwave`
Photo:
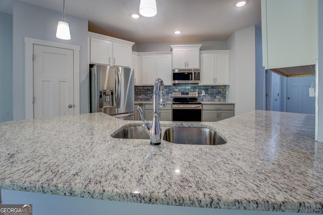
[[[201,51],[200,85],[230,84],[230,50]]]

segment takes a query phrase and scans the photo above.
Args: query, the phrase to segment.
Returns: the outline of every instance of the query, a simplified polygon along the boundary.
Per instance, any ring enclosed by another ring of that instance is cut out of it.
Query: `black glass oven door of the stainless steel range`
[[[173,104],[173,121],[202,121],[202,105]]]

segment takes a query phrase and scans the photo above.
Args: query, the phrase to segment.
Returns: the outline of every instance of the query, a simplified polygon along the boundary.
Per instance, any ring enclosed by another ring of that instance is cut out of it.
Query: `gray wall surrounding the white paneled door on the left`
[[[71,40],[56,38],[57,22],[62,13],[15,1],[13,5],[13,118],[25,118],[25,43],[30,37],[80,46],[80,113],[88,113],[88,21],[65,16],[70,25]],[[9,90],[9,89],[8,89]]]

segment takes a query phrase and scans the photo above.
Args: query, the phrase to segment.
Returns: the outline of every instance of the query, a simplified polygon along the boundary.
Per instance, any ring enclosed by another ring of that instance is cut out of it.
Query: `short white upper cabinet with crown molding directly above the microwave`
[[[173,68],[199,68],[201,46],[202,44],[171,45],[173,50]]]

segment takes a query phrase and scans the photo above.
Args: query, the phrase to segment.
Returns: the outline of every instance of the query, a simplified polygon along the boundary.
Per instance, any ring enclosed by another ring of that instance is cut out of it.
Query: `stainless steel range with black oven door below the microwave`
[[[197,92],[173,92],[173,121],[202,121]]]

